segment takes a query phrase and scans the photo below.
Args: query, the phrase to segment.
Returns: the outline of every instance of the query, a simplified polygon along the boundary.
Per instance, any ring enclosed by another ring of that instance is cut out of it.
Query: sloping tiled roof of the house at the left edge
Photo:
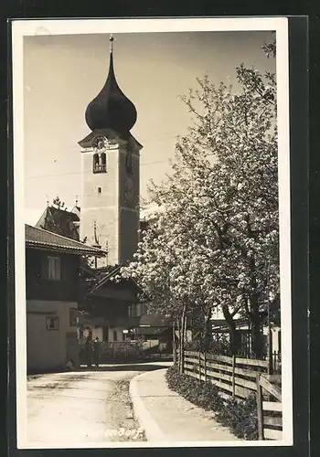
[[[104,257],[107,253],[104,250],[92,248],[86,244],[62,237],[43,228],[32,227],[26,224],[26,246],[38,250],[54,250],[58,252],[69,252],[70,254],[92,255]]]

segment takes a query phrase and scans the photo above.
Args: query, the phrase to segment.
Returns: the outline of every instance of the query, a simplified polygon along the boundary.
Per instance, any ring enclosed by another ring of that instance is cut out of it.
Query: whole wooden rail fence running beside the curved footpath
[[[183,371],[219,387],[223,396],[257,399],[260,440],[281,440],[281,375],[269,375],[268,360],[219,356],[186,351]],[[269,411],[269,413],[266,413]],[[269,415],[268,415],[269,414]]]

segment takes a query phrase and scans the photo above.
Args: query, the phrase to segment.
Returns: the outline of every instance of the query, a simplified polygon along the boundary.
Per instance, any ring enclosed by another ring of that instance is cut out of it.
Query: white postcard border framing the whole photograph
[[[48,19],[15,20],[12,24],[14,196],[16,252],[16,432],[18,449],[37,449],[27,442],[27,337],[24,208],[24,110],[23,40],[36,35],[83,35],[191,31],[276,32],[277,104],[279,140],[280,270],[283,351],[283,440],[196,442],[92,442],[83,448],[221,447],[293,445],[293,376],[291,314],[291,220],[289,156],[289,56],[286,17],[174,18],[174,19]],[[46,445],[50,449],[72,449],[68,444]],[[41,448],[38,448],[41,449]]]

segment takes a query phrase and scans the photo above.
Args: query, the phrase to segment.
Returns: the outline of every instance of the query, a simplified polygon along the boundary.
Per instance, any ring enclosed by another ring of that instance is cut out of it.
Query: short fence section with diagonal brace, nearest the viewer
[[[257,375],[259,440],[282,440],[282,393],[279,375]]]

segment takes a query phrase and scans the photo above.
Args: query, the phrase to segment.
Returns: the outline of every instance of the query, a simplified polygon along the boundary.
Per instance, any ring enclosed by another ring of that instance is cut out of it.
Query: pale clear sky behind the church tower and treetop
[[[268,31],[114,34],[115,76],[133,101],[133,136],[141,152],[141,197],[150,178],[170,171],[178,135],[192,118],[180,97],[208,75],[237,90],[236,67],[244,63],[274,70],[261,46]],[[35,224],[47,201],[67,207],[80,199],[80,146],[90,129],[84,113],[109,69],[109,35],[51,35],[24,38],[25,221]]]

